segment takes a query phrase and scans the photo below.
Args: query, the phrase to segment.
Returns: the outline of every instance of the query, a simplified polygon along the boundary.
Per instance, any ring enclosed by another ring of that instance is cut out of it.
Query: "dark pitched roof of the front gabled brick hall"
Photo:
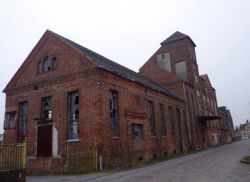
[[[108,58],[105,58],[104,56],[87,49],[65,37],[62,37],[61,35],[58,35],[52,31],[48,32],[52,33],[53,35],[57,36],[60,40],[67,43],[69,46],[73,47],[74,49],[80,51],[82,54],[86,55],[88,58],[90,58],[92,61],[94,61],[101,69],[104,69],[106,71],[109,71],[115,75],[118,75],[122,78],[125,78],[130,81],[134,81],[136,83],[139,83],[141,85],[144,85],[146,87],[149,87],[153,90],[157,90],[161,93],[164,93],[168,96],[174,97],[176,99],[180,99],[173,91],[171,91],[169,88],[165,87],[164,85],[161,85],[159,83],[154,82],[153,80],[150,80],[149,78],[146,78],[144,76],[139,75],[135,71],[132,71],[114,61],[111,61]]]

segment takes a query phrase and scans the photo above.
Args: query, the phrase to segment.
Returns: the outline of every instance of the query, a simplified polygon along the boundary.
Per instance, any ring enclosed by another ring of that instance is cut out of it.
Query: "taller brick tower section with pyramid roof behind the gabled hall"
[[[186,102],[193,148],[218,144],[217,99],[207,75],[199,75],[195,43],[175,32],[141,67],[140,74],[172,89]]]

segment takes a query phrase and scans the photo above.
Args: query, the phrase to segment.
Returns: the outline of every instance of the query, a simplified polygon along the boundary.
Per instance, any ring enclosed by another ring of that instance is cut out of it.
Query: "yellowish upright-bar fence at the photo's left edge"
[[[24,169],[26,144],[5,144],[0,150],[0,169]]]

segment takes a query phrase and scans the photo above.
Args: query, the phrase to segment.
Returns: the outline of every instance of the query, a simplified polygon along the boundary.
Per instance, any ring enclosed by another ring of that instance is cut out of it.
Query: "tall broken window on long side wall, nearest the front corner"
[[[109,109],[110,109],[110,124],[113,137],[119,137],[119,125],[118,125],[118,93],[115,90],[109,92]]]

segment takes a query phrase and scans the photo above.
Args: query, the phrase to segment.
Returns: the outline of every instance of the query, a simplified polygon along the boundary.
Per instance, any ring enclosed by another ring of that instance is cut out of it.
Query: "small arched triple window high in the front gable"
[[[54,70],[56,67],[55,56],[45,56],[42,61],[37,63],[37,73],[45,73]]]

